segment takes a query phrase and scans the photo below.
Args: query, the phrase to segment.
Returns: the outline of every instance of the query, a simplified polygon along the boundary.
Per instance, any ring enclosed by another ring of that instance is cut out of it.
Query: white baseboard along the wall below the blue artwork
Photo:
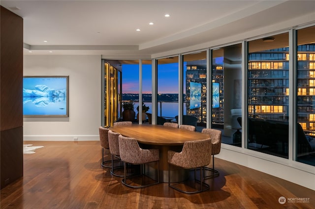
[[[74,140],[77,137],[78,140]],[[24,141],[99,141],[98,135],[24,135]]]

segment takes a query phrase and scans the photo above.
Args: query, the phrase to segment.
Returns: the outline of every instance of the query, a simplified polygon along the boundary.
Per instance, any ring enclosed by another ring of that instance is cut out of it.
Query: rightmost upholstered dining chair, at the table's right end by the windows
[[[212,168],[206,167],[206,170],[212,172],[212,175],[206,176],[205,179],[219,176],[220,172],[215,169],[215,157],[214,155],[218,155],[221,151],[221,141],[222,141],[222,132],[216,129],[202,129],[202,133],[208,133],[212,139]]]

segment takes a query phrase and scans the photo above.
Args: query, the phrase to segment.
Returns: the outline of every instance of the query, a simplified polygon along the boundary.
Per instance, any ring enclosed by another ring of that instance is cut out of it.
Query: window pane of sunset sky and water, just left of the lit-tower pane
[[[178,115],[178,56],[157,60],[157,124]]]

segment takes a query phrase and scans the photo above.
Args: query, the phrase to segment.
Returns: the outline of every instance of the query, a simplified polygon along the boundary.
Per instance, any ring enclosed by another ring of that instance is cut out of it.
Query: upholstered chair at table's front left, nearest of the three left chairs
[[[143,188],[143,187],[151,186],[154,184],[158,184],[159,183],[159,171],[158,171],[159,151],[158,149],[149,149],[149,150],[141,149],[135,138],[125,137],[123,135],[119,135],[118,141],[119,141],[120,157],[121,157],[121,160],[124,162],[124,179],[122,179],[122,183],[131,188]],[[126,163],[141,165],[140,175],[143,176],[142,175],[143,170],[144,170],[143,165],[145,163],[150,163],[150,162],[158,163],[158,167],[157,167],[158,180],[157,181],[154,181],[154,183],[131,185],[131,184],[134,184],[132,182],[132,178],[134,178],[133,176],[133,177],[128,177],[129,183],[127,183]]]

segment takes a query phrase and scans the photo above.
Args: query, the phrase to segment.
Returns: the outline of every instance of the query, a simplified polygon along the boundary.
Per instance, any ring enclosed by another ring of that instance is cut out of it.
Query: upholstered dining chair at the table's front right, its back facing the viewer
[[[168,186],[186,193],[194,194],[198,192],[205,191],[209,189],[209,185],[204,182],[203,169],[204,166],[210,164],[211,162],[211,138],[197,140],[197,141],[186,141],[183,146],[182,152],[178,153],[172,150],[167,152],[167,161],[168,161]],[[180,183],[170,183],[170,166],[175,165],[182,167],[184,169],[194,169],[194,181],[200,183],[199,186],[193,186],[193,190],[181,189],[179,186],[176,186]],[[200,169],[200,180],[196,178],[196,170]],[[199,188],[198,188],[199,187]]]

